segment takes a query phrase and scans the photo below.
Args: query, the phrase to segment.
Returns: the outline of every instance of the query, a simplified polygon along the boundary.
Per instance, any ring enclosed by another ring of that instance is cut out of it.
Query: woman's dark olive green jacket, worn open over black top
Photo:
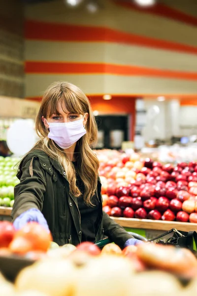
[[[17,177],[20,183],[14,188],[12,218],[36,208],[44,215],[53,240],[59,245],[81,242],[80,212],[77,198],[69,192],[66,172],[61,165],[44,151],[34,150],[21,162]],[[102,211],[101,184],[98,181],[99,230],[96,241],[104,236],[123,248],[132,236]]]

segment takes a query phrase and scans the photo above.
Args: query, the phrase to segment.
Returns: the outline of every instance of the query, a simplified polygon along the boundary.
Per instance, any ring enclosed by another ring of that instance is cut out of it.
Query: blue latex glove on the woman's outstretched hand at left
[[[22,213],[19,217],[17,217],[14,220],[13,225],[16,230],[19,230],[20,228],[25,226],[25,224],[27,224],[28,222],[37,222],[40,225],[42,225],[49,232],[49,226],[48,226],[44,216],[37,209],[30,209],[30,210]]]

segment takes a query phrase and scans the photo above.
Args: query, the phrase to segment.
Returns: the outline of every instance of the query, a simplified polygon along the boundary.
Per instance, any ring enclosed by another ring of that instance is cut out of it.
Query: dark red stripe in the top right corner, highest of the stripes
[[[142,8],[132,2],[124,2],[123,0],[114,0],[114,2],[123,7],[137,10],[142,13],[154,14],[154,15],[165,17],[165,18],[173,19],[188,25],[197,26],[196,17],[192,15],[188,15],[182,11],[179,11],[178,9],[176,10],[162,3],[157,3],[154,6]]]

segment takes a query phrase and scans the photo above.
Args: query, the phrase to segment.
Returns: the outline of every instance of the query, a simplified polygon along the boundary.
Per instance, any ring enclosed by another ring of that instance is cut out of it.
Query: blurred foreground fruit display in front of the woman
[[[14,283],[0,274],[1,296],[194,296],[197,292],[197,258],[173,246],[142,243],[121,250],[110,243],[100,250],[83,242],[59,247],[35,222],[18,231],[10,222],[0,222],[0,257],[10,255],[34,262],[16,275]]]

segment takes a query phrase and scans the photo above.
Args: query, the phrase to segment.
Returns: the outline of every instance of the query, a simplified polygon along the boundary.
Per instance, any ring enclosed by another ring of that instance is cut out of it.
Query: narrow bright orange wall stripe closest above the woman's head
[[[27,74],[116,74],[197,80],[197,73],[98,63],[26,62]]]

